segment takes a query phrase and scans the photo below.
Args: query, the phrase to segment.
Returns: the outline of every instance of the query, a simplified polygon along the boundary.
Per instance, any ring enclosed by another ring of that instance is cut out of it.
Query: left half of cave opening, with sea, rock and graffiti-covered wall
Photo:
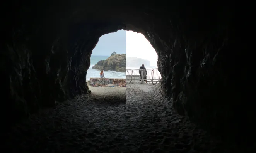
[[[102,35],[92,50],[87,70],[89,87],[126,87],[126,32]]]

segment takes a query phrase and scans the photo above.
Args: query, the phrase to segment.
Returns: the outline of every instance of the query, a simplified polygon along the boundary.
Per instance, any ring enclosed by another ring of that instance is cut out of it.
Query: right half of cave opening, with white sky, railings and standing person
[[[126,81],[157,84],[160,79],[155,49],[143,34],[126,31]]]

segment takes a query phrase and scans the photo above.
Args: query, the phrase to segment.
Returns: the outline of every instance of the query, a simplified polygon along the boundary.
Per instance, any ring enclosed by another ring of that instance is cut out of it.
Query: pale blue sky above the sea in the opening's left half
[[[110,56],[111,53],[126,54],[126,31],[118,30],[114,33],[102,35],[92,50],[92,56]]]

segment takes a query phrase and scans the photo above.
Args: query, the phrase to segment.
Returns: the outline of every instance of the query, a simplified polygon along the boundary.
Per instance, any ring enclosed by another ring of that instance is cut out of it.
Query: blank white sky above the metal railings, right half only
[[[151,66],[157,66],[157,53],[144,35],[126,31],[126,57],[147,59]]]

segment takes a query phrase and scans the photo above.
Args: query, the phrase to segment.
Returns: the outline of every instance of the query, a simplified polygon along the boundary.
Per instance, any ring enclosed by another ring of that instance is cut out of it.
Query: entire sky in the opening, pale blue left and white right
[[[102,35],[92,55],[110,56],[112,52],[126,54],[126,57],[137,57],[150,61],[150,66],[157,66],[157,53],[144,35],[118,30],[117,32]]]

